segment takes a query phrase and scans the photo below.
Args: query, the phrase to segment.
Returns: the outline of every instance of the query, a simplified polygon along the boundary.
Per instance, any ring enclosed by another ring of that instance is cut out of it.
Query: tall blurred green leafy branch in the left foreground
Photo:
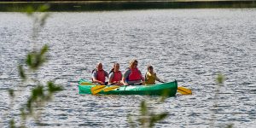
[[[36,5],[34,5],[36,6]],[[34,12],[46,12],[49,9],[48,4],[44,4],[42,6],[39,6],[37,9],[34,9],[32,6],[29,6],[26,8],[26,14],[28,16],[32,17],[33,20],[33,27],[32,27],[32,41],[35,42],[38,39],[38,33],[42,30],[41,27],[44,26],[47,18],[49,17],[49,13],[37,13],[34,14]],[[36,44],[35,44],[36,45]],[[36,47],[35,47],[36,48]],[[31,70],[37,70],[38,67],[42,66],[45,61],[47,61],[46,52],[49,50],[48,45],[44,45],[44,47],[40,50],[33,50],[32,52],[28,53],[26,55],[26,61],[23,61],[26,63],[27,67]],[[24,72],[23,67],[19,66],[19,72],[20,77],[22,79],[26,79],[26,74]],[[32,76],[31,79],[33,79],[35,83],[39,83],[39,80],[37,79],[36,71],[34,71],[34,76]],[[34,84],[35,84],[34,83]],[[37,109],[34,110],[34,108],[37,107],[43,107],[44,102],[48,101],[50,99],[51,94],[56,91],[63,90],[61,86],[55,85],[53,82],[48,82],[48,93],[47,90],[44,89],[44,86],[41,84],[38,84],[35,88],[31,90],[31,96],[27,99],[26,104],[23,105],[23,107],[20,108],[20,118],[21,123],[19,124],[20,127],[26,127],[26,119],[27,116],[31,116],[36,121],[39,119],[40,112],[37,111]],[[15,96],[14,90],[9,90],[10,96]],[[37,113],[38,112],[38,113]],[[39,121],[39,120],[38,120]],[[10,127],[15,127],[14,120],[10,121]]]

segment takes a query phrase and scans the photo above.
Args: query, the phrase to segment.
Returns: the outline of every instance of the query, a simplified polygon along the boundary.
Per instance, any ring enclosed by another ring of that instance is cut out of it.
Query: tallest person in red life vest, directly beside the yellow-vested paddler
[[[145,84],[145,79],[141,71],[137,68],[137,60],[130,61],[130,66],[125,71],[122,82],[125,85]]]

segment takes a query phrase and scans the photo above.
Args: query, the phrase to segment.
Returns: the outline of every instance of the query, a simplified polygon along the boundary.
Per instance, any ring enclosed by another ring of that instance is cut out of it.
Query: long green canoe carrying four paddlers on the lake
[[[89,80],[79,80],[79,94],[91,94],[90,88],[96,86]],[[108,88],[110,86],[106,86]],[[128,85],[120,86],[117,89],[110,91],[100,91],[98,94],[104,95],[148,95],[148,96],[175,96],[177,92],[177,81],[168,82],[164,84],[153,85]]]

